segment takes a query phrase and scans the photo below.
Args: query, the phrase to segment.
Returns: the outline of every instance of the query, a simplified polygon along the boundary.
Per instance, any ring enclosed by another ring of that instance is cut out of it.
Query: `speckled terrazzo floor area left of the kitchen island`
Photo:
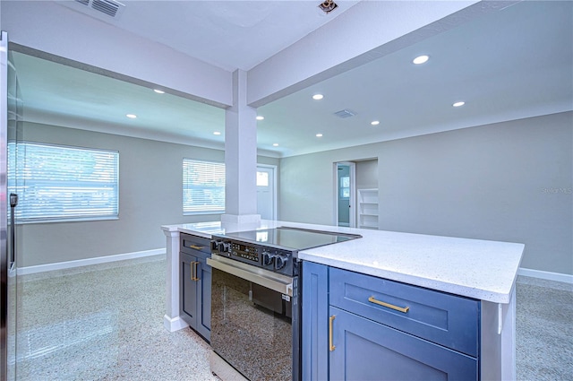
[[[163,327],[165,255],[18,284],[18,380],[218,380],[209,345]]]

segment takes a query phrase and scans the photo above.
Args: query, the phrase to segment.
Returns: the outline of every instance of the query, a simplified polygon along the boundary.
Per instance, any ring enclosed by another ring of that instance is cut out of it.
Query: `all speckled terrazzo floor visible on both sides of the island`
[[[168,333],[165,255],[21,276],[17,379],[218,380],[209,346]],[[517,280],[517,379],[573,379],[573,286]]]

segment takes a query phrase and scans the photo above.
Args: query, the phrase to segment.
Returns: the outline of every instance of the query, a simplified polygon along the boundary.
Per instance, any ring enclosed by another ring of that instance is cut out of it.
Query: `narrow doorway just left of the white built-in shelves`
[[[335,163],[336,225],[355,228],[355,163]]]

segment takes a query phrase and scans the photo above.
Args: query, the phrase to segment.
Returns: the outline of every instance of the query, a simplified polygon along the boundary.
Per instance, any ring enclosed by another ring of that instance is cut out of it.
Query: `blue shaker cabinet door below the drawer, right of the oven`
[[[476,380],[477,359],[330,307],[330,380]]]

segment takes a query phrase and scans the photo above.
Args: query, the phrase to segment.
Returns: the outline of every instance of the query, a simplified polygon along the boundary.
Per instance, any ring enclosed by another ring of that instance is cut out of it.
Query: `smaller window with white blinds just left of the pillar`
[[[225,212],[225,163],[183,160],[183,213]]]

